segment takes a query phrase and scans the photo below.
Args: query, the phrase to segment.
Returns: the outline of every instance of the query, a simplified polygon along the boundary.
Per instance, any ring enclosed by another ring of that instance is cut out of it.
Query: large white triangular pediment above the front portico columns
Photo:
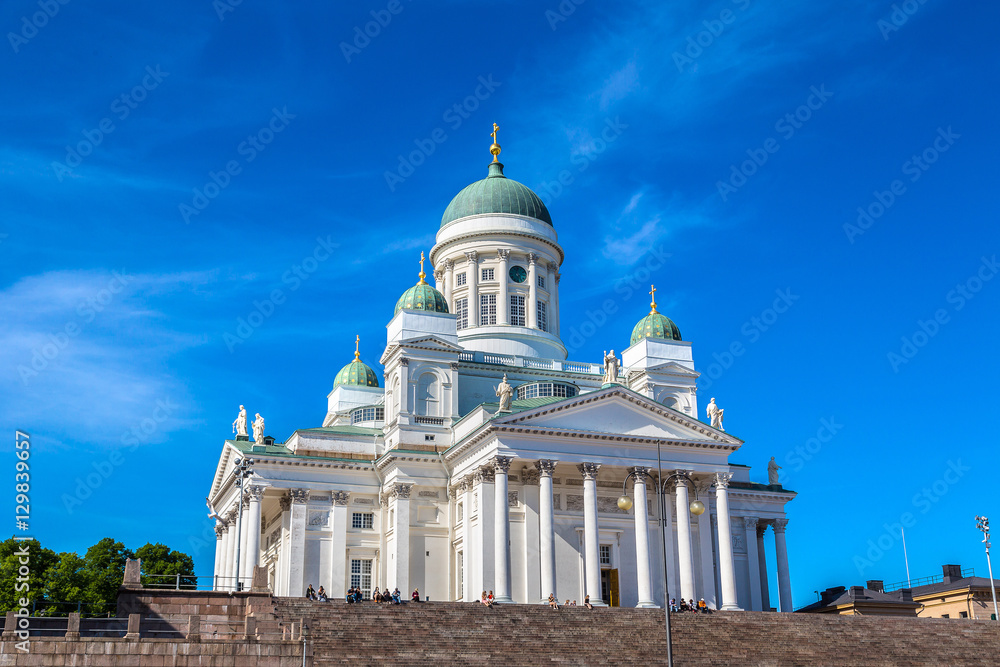
[[[564,401],[524,410],[493,420],[545,431],[595,436],[713,443],[739,447],[743,441],[683,413],[665,407],[622,386],[606,387]]]

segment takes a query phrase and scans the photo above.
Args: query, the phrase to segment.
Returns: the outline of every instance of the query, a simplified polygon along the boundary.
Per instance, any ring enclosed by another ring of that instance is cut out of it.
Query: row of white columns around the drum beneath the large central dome
[[[468,260],[466,265],[466,284],[469,288],[469,327],[479,326],[479,252],[471,250],[465,253]],[[531,329],[538,329],[538,277],[540,272],[544,272],[545,285],[549,293],[546,315],[546,331],[556,336],[559,335],[559,267],[555,262],[548,262],[544,269],[539,266],[540,257],[537,253],[527,254],[528,263],[528,297],[525,302],[525,325]],[[446,259],[443,262],[443,269],[436,270],[434,277],[437,287],[444,294],[445,301],[448,302],[448,309],[455,312],[455,262]],[[510,295],[508,289],[507,273],[510,268],[510,250],[501,248],[497,250],[497,274],[496,279],[499,285],[497,294],[497,324],[510,323]]]

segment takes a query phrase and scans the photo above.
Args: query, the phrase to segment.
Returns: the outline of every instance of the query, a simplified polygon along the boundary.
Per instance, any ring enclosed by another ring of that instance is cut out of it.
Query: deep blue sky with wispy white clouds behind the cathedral
[[[626,347],[656,283],[733,461],[784,467],[796,606],[904,579],[901,522],[914,577],[985,573],[997,7],[223,2],[8,3],[0,425],[47,546],[210,574],[236,406],[284,439],[355,334],[377,365],[496,121],[566,250],[572,358]]]

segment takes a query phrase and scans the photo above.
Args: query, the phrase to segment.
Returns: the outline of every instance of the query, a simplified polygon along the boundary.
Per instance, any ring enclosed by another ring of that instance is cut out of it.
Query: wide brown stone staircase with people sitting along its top
[[[274,598],[275,621],[305,622],[313,665],[665,664],[663,612]],[[1000,665],[1000,623],[717,612],[674,614],[684,665]]]

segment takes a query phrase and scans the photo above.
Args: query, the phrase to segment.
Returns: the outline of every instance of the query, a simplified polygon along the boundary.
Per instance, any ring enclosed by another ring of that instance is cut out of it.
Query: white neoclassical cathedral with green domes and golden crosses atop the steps
[[[283,444],[225,441],[209,494],[217,587],[248,586],[259,565],[276,595],[311,584],[331,597],[398,587],[439,601],[493,591],[500,602],[553,593],[652,607],[666,573],[670,597],[792,611],[795,494],[752,483],[730,461],[742,441],[699,421],[691,342],[655,300],[636,313],[620,372],[567,360],[556,228],[504,175],[495,141],[491,152],[487,177],[445,209],[430,251],[436,287],[421,268],[395,304],[383,382],[356,350],[321,424]],[[604,331],[609,347],[628,335]],[[501,384],[511,396],[498,398]],[[253,475],[238,487],[234,466],[247,458]],[[636,502],[619,502],[623,486]]]

